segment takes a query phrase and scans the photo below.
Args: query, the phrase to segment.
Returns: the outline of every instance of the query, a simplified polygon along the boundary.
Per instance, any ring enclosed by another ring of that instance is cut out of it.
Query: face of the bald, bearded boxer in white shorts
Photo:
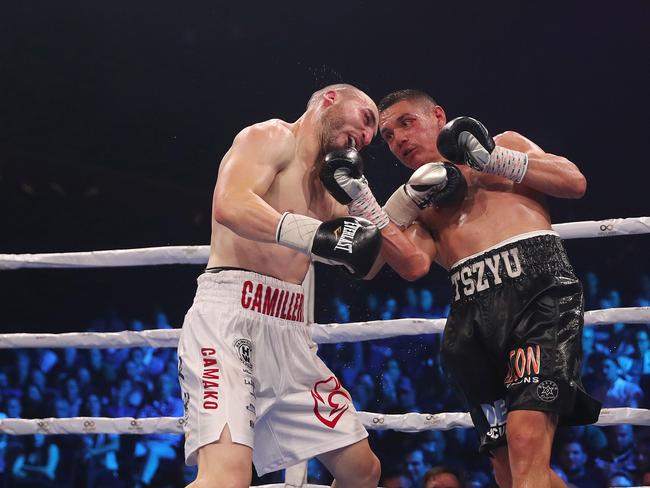
[[[337,92],[322,115],[323,153],[352,146],[360,151],[377,132],[378,118],[377,106],[365,93]]]

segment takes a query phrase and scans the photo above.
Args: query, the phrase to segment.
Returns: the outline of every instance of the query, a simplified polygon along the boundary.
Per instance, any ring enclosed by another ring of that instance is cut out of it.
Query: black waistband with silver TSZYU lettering
[[[562,240],[555,232],[515,236],[459,261],[449,270],[453,301],[539,274],[573,276]]]

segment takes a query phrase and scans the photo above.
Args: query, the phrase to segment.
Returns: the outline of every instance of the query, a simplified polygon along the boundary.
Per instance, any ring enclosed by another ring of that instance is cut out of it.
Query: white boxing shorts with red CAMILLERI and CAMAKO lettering
[[[368,436],[316,355],[304,301],[302,286],[249,271],[199,276],[178,345],[187,464],[226,425],[260,476]]]

